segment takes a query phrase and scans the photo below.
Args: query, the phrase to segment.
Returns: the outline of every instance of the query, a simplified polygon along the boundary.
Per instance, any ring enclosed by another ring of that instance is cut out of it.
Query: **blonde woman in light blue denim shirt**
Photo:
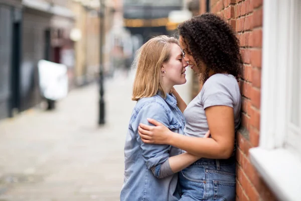
[[[153,118],[171,131],[183,134],[185,121],[172,87],[184,84],[185,68],[177,39],[158,36],[146,42],[135,59],[137,71],[132,100],[137,101],[128,125],[124,147],[124,183],[120,200],[178,200],[178,174],[199,159],[170,145],[144,144],[138,125]]]

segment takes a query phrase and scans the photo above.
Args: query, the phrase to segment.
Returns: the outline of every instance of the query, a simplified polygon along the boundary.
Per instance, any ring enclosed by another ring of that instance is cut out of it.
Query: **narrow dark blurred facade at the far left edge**
[[[18,103],[21,61],[21,0],[0,1],[0,119],[12,115]]]

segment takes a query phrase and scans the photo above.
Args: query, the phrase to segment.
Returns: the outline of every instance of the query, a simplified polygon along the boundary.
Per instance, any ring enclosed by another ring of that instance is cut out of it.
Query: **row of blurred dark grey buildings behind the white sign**
[[[0,118],[6,118],[40,103],[39,60],[73,67],[74,15],[68,1],[2,0],[0,16]]]

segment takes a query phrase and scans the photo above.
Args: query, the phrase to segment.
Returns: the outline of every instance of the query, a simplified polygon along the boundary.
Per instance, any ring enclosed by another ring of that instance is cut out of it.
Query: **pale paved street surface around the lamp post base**
[[[119,200],[132,80],[105,82],[102,127],[96,84],[72,90],[54,112],[0,121],[0,201]],[[177,88],[189,100],[189,84]]]

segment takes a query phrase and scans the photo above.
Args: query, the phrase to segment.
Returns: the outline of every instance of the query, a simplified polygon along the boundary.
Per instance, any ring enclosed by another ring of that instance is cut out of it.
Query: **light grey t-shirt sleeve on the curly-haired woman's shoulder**
[[[229,77],[214,77],[214,79],[205,83],[201,99],[204,110],[211,106],[229,106],[234,107],[234,100],[231,95],[231,85],[233,82]]]

